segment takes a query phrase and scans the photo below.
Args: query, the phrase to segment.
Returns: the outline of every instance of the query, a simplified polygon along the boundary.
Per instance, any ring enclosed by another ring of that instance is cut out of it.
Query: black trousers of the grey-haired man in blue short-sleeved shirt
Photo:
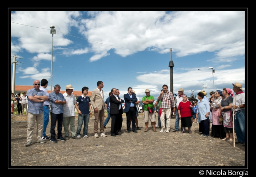
[[[58,125],[57,125],[57,131],[58,131],[58,138],[60,138],[60,136],[62,136],[61,131],[62,131],[62,124],[63,124],[63,113],[60,114],[54,114],[51,112],[51,139],[55,139],[55,127],[56,127],[56,123],[58,120]]]

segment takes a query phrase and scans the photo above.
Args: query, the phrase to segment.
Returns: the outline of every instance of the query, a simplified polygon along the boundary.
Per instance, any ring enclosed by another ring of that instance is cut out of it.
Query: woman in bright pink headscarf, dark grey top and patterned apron
[[[219,116],[223,116],[224,132],[226,133],[226,138],[222,140],[228,139],[229,141],[233,141],[233,121],[231,117],[231,108],[233,103],[232,96],[234,94],[229,88],[223,88],[222,94],[223,98],[221,100]]]

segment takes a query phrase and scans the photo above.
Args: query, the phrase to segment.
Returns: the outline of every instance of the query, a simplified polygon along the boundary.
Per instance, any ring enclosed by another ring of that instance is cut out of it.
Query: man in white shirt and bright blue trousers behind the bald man
[[[46,91],[46,87],[48,86],[48,80],[46,79],[42,79],[41,80],[41,86],[40,86],[40,90],[45,92],[46,96],[49,96],[49,93]],[[48,126],[49,123],[49,106],[50,106],[50,100],[45,100],[44,102],[44,126],[43,126],[43,137],[42,139],[46,140],[46,139],[50,139],[50,136],[47,136],[45,134],[46,128]]]

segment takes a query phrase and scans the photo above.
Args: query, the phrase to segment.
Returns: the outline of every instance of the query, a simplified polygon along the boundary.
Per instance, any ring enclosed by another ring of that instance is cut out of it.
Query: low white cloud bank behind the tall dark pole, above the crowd
[[[223,66],[221,66],[223,67]],[[220,67],[220,68],[221,68]],[[207,68],[207,67],[205,67]],[[224,67],[225,68],[225,67]],[[155,92],[159,92],[162,89],[163,84],[167,84],[170,88],[170,73],[168,70],[161,70],[157,73],[148,73],[141,74],[137,76],[137,80],[144,83],[146,86],[151,86],[152,89],[151,95],[154,95]],[[224,87],[233,88],[231,83],[239,82],[244,85],[245,83],[245,68],[238,69],[218,69],[214,73],[214,87],[215,90],[222,90]],[[209,69],[187,69],[182,70],[180,73],[173,73],[173,91],[174,93],[178,92],[179,88],[183,88],[185,93],[191,93],[191,90],[195,90],[195,93],[198,93],[202,90],[202,85],[207,86],[206,92],[209,93],[213,91],[213,81],[212,81],[212,72]],[[142,94],[142,85],[133,86],[133,88],[140,88],[139,92]],[[150,89],[149,88],[149,89]],[[187,93],[187,94],[188,94]],[[159,94],[159,93],[158,93]],[[194,94],[195,95],[195,94]]]

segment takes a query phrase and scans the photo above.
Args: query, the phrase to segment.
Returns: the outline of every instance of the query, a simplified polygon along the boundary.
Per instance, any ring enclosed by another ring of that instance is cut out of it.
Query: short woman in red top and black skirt
[[[188,127],[188,133],[191,134],[190,127],[192,126],[191,122],[191,111],[190,109],[193,107],[190,101],[187,101],[188,96],[183,95],[182,96],[182,101],[180,102],[178,106],[178,113],[179,113],[179,118],[181,119],[181,126],[182,126],[182,131],[181,133],[185,133],[185,127]]]

